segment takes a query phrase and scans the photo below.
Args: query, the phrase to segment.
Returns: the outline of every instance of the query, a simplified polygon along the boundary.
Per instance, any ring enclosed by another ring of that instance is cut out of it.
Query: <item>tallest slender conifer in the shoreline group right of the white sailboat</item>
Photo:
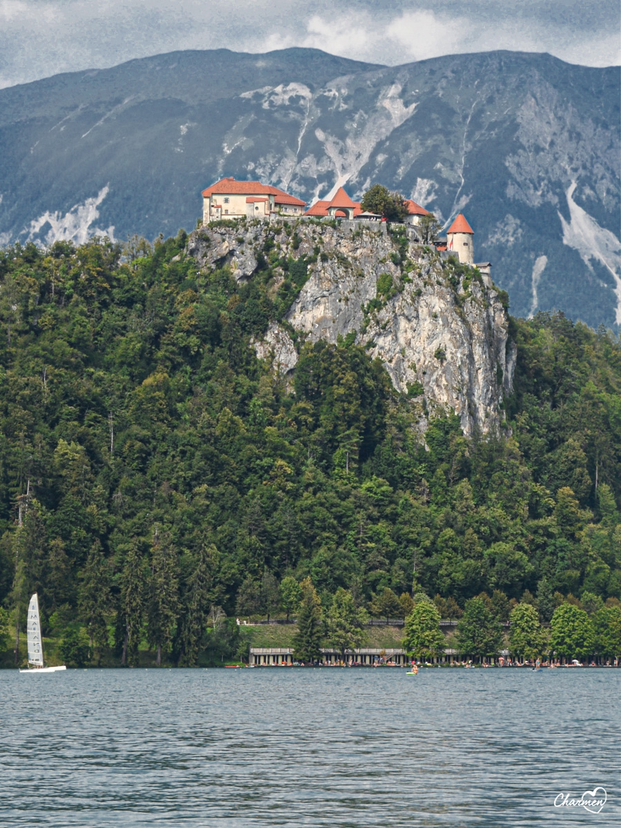
[[[176,549],[166,532],[156,535],[151,556],[149,581],[149,609],[147,638],[156,647],[156,665],[161,665],[161,653],[170,652],[179,616],[179,575]]]

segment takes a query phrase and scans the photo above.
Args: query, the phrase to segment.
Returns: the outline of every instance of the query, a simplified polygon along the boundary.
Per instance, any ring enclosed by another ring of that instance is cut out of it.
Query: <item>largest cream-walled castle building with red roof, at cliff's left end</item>
[[[273,213],[301,215],[306,201],[260,181],[235,181],[231,176],[203,190],[203,224],[217,219],[269,219]]]

